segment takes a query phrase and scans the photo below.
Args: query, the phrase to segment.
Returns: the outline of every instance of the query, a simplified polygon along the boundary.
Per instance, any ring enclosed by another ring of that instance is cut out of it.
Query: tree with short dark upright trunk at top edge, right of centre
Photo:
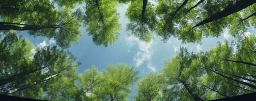
[[[127,24],[127,30],[132,35],[146,42],[153,38],[151,33],[155,29],[157,20],[155,8],[148,0],[132,2],[126,11],[126,16],[130,19],[130,22]]]

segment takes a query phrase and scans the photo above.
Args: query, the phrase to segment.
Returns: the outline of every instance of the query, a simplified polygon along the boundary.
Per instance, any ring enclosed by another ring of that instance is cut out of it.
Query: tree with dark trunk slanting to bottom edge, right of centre
[[[186,48],[180,48],[172,61],[165,61],[163,70],[170,83],[181,83],[194,100],[203,100],[188,83],[192,75],[196,78],[198,72],[198,61],[193,60],[196,60],[193,54],[189,54]]]

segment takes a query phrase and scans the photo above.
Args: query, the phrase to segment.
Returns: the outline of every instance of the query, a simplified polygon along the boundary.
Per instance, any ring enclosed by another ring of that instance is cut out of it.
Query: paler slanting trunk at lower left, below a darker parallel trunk
[[[39,83],[41,83],[41,82],[43,82],[43,81],[47,81],[47,80],[49,80],[49,79],[51,79],[51,78],[53,78],[53,77],[56,77],[56,76],[58,76],[58,74],[51,75],[51,76],[49,76],[49,77],[46,77],[46,78],[43,78],[43,79],[41,79],[41,80],[32,82],[32,83],[30,83],[30,84],[23,85],[23,86],[21,86],[21,87],[13,88],[13,89],[11,89],[11,90],[8,90],[8,91],[3,92],[2,94],[11,94],[11,93],[17,92],[17,91],[19,91],[19,90],[27,89],[27,88],[33,87],[34,85],[37,85],[37,84],[39,84]]]

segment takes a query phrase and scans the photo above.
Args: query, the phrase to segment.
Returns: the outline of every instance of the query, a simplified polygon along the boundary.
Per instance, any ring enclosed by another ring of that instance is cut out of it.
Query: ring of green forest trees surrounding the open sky
[[[127,6],[127,25],[120,23],[119,6]],[[205,52],[180,47],[160,70],[144,76],[125,63],[102,70],[93,65],[78,73],[81,62],[68,48],[83,34],[95,45],[111,47],[122,26],[124,34],[145,43],[154,37],[201,43],[224,30],[234,40]],[[252,93],[256,36],[246,34],[249,28],[256,29],[256,0],[3,0],[0,94],[43,100],[199,101]],[[55,44],[35,47],[24,33]]]

